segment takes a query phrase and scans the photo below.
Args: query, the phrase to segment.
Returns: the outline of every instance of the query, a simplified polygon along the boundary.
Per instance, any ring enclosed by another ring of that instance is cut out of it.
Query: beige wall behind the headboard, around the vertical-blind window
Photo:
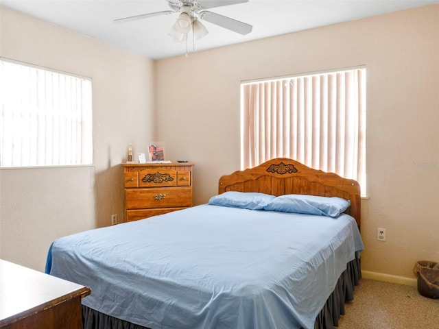
[[[239,169],[242,80],[365,64],[362,267],[412,284],[417,260],[439,261],[438,58],[439,5],[431,5],[159,60],[156,138],[195,162],[195,204],[206,202],[219,176]],[[386,242],[377,228],[387,229]]]

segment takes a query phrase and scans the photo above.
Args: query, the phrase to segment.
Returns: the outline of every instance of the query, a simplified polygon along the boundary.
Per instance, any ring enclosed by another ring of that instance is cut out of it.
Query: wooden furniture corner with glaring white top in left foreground
[[[0,328],[82,328],[83,287],[0,260]]]

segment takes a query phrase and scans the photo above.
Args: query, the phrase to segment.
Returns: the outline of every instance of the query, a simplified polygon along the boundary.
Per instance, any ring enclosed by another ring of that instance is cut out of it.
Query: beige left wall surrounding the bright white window
[[[51,241],[123,220],[123,170],[152,140],[154,62],[0,7],[0,56],[93,79],[93,167],[0,169],[0,257],[43,270]]]

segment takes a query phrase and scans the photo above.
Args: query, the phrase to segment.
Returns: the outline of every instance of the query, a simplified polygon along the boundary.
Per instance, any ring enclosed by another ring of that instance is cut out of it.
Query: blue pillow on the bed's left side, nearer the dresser
[[[258,192],[224,192],[209,199],[209,204],[215,206],[226,206],[244,208],[251,210],[263,210],[267,204],[275,198]]]

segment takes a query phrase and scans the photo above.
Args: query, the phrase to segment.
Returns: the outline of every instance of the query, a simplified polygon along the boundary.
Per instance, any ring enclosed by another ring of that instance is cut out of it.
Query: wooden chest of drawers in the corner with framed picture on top
[[[193,166],[191,162],[123,163],[126,221],[191,207]]]

